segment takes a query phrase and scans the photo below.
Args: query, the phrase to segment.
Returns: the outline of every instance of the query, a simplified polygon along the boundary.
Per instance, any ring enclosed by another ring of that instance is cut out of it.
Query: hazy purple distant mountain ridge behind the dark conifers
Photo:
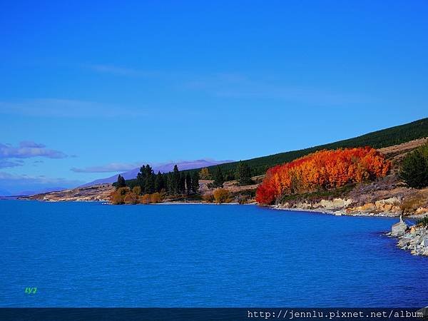
[[[178,166],[179,170],[189,170],[189,169],[195,169],[195,168],[203,168],[213,165],[219,165],[224,163],[230,163],[233,161],[208,161],[205,159],[198,159],[197,161],[183,161],[183,162],[177,162],[177,163],[165,163],[160,165],[154,165],[153,171],[155,173],[158,173],[160,171],[161,173],[168,173],[173,170],[174,165]],[[126,180],[131,180],[133,178],[137,177],[138,172],[140,171],[140,168],[134,168],[132,170],[128,170],[127,172],[121,173],[123,178]],[[92,182],[86,183],[81,185],[80,187],[85,186],[91,186],[96,184],[103,184],[103,183],[114,183],[118,179],[118,174],[115,174],[113,176],[110,176],[108,178],[100,178],[98,180],[93,180]]]

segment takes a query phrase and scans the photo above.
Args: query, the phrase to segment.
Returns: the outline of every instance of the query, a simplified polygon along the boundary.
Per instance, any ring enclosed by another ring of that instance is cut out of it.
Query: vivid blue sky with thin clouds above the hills
[[[428,116],[427,1],[60,2],[1,5],[0,190]]]

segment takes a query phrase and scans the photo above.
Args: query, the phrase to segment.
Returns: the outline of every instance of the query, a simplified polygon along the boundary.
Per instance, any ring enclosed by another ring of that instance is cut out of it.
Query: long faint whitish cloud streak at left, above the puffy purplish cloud
[[[146,108],[116,106],[94,101],[36,98],[0,101],[0,113],[22,116],[66,118],[113,118],[148,116]]]

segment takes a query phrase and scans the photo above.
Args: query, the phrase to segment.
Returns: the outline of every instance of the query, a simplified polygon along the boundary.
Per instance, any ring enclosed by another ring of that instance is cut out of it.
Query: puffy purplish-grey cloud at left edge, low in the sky
[[[67,155],[61,151],[46,148],[44,144],[34,143],[33,141],[21,141],[17,147],[0,143],[0,158],[31,157],[66,158]]]

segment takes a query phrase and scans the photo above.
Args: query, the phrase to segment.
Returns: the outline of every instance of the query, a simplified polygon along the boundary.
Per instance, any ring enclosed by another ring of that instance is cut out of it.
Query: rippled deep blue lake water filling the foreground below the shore
[[[397,219],[19,200],[0,201],[0,218],[1,306],[428,303],[428,259],[382,235]]]

